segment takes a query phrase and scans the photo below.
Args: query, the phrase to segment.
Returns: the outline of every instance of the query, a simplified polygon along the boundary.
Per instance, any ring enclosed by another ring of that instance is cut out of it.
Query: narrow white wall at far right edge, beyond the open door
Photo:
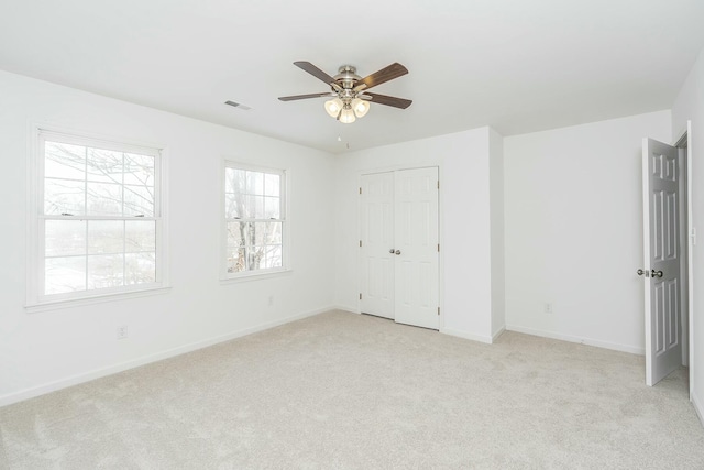
[[[690,72],[672,108],[672,135],[678,139],[686,129],[686,121],[692,121],[690,134],[690,157],[692,159],[692,227],[698,229],[698,244],[692,251],[694,309],[693,325],[693,361],[690,367],[694,381],[692,383],[692,402],[700,418],[704,422],[704,252],[702,251],[702,220],[704,220],[704,51]]]

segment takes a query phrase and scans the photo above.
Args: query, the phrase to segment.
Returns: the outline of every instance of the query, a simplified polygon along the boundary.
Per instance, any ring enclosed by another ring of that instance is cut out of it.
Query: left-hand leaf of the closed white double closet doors
[[[361,181],[361,311],[394,318],[394,173]]]

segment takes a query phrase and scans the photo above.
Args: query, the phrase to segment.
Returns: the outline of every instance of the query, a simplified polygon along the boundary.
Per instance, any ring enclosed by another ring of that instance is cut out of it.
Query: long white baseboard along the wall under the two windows
[[[306,311],[302,314],[293,315],[290,317],[282,318],[274,321],[267,321],[264,324],[260,324],[250,328],[244,328],[237,331],[231,331],[226,335],[216,336],[212,338],[208,338],[201,341],[190,342],[188,345],[178,346],[176,348],[167,349],[161,352],[155,352],[153,354],[143,356],[138,359],[133,359],[127,362],[121,362],[114,365],[110,365],[107,368],[96,369],[89,372],[79,373],[75,375],[67,376],[65,379],[59,379],[56,381],[47,382],[42,385],[32,386],[29,389],[21,390],[19,392],[12,392],[7,395],[0,396],[0,406],[11,405],[13,403],[22,402],[24,400],[33,398],[35,396],[44,395],[46,393],[55,392],[57,390],[66,389],[73,385],[78,385],[84,382],[90,382],[91,380],[100,379],[107,375],[112,375],[119,372],[127,371],[129,369],[134,369],[140,365],[145,365],[152,362],[161,361],[164,359],[173,358],[175,356],[180,356],[186,352],[196,351],[198,349],[207,348],[209,346],[217,345],[219,342],[229,341],[231,339],[240,338],[243,336],[252,335],[254,332],[263,331],[270,328],[274,328],[280,325],[289,324],[292,321],[300,320],[302,318],[311,317],[314,315],[319,315],[324,311],[330,311],[339,307],[329,306],[323,308],[318,308],[311,311]]]

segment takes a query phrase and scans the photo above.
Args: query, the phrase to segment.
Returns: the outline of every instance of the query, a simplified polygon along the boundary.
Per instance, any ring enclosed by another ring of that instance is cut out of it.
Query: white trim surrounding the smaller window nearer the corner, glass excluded
[[[284,197],[284,204],[282,205],[283,216],[282,221],[284,222],[284,230],[282,237],[282,267],[271,267],[266,270],[257,270],[257,271],[245,271],[241,273],[229,273],[228,272],[228,237],[227,237],[227,218],[226,214],[226,204],[224,204],[224,181],[226,181],[226,170],[227,168],[237,168],[237,170],[249,170],[251,172],[264,172],[271,174],[280,175],[282,188],[280,195]],[[266,166],[257,166],[251,165],[249,163],[242,163],[239,160],[224,157],[222,159],[222,165],[220,167],[220,250],[218,253],[220,254],[220,284],[232,284],[238,282],[246,282],[246,281],[255,281],[255,280],[265,280],[271,277],[278,277],[282,275],[289,274],[292,269],[290,263],[290,251],[292,251],[292,239],[290,239],[290,174],[288,168],[273,168]]]

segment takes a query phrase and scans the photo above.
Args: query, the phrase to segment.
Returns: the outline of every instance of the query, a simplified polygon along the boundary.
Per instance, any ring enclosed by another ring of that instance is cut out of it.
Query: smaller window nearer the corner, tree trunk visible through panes
[[[224,167],[224,277],[283,271],[286,266],[284,171]]]

